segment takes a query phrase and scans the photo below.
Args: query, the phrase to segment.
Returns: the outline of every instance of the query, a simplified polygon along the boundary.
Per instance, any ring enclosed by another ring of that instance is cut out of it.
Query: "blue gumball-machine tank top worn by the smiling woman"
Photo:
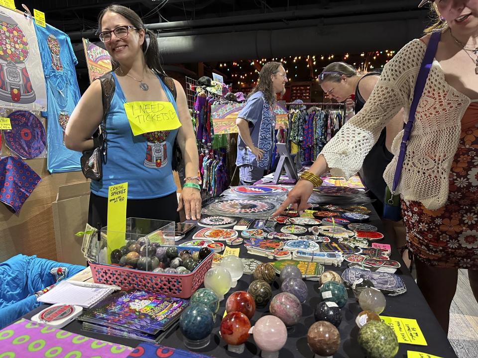
[[[113,74],[113,77],[116,82],[116,90],[106,118],[107,163],[103,164],[103,179],[91,181],[91,191],[98,196],[108,197],[110,185],[127,181],[128,199],[152,199],[176,192],[171,159],[174,139],[178,130],[172,130],[166,138],[166,142],[157,143],[160,153],[164,153],[164,146],[167,149],[167,156],[162,156],[161,167],[157,168],[154,161],[147,160],[147,150],[151,144],[143,135],[133,136],[131,132],[123,107],[126,98],[116,75]],[[177,113],[173,95],[160,79],[159,81]]]

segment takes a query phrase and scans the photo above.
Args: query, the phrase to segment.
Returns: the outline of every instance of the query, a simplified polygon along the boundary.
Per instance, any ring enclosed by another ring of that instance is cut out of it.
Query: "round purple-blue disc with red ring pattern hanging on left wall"
[[[46,146],[45,127],[28,111],[18,110],[8,115],[11,129],[3,131],[5,144],[21,158],[32,159],[43,153]]]

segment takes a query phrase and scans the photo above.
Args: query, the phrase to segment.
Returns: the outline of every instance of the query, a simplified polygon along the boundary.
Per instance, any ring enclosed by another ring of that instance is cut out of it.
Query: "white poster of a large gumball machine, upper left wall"
[[[2,7],[0,23],[0,106],[46,110],[45,76],[32,19]]]

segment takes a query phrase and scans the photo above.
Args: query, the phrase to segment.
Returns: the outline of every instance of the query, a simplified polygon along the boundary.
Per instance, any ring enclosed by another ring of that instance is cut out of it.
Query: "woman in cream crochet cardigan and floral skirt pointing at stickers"
[[[436,0],[432,9],[437,23],[388,62],[363,109],[324,147],[310,172],[320,176],[330,168],[332,175],[349,178],[359,171],[400,108],[407,119],[430,32],[441,31],[396,193],[418,286],[447,332],[458,269],[468,269],[478,300],[478,0]],[[402,135],[383,174],[389,187]],[[313,186],[300,180],[274,215],[290,204],[306,209]]]

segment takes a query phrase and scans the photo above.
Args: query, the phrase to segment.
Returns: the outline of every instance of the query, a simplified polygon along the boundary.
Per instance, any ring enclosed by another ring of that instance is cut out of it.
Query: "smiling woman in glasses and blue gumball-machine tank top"
[[[174,80],[175,100],[163,83],[166,75],[156,36],[144,27],[134,11],[121,5],[108,6],[99,16],[99,28],[100,40],[111,55],[116,89],[106,117],[108,160],[103,165],[103,178],[91,182],[88,222],[94,226],[106,225],[108,187],[123,182],[128,183],[127,217],[179,221],[178,211],[184,206],[188,220],[198,219],[201,212],[198,150],[182,86]],[[140,111],[141,117],[131,114],[128,117],[124,105],[132,106],[134,102],[153,103],[149,107],[146,104],[136,107],[135,114]],[[149,115],[152,111],[156,117]],[[92,134],[102,117],[102,89],[100,82],[94,81],[70,117],[65,131],[66,146],[80,152],[92,149]],[[174,122],[174,127],[179,128],[162,130],[164,127],[158,124],[145,127],[161,122],[151,118],[167,118],[166,121],[171,121],[168,123]],[[131,126],[134,120],[140,130]],[[140,134],[134,135],[133,129]],[[176,136],[187,177],[179,205],[171,168]]]

